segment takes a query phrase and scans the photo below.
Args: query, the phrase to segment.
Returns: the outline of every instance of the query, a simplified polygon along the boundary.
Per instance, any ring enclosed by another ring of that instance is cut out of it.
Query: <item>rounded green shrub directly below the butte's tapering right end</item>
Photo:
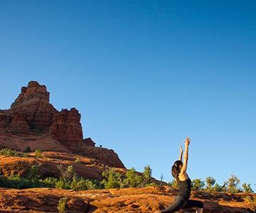
[[[124,186],[121,174],[115,172],[112,168],[102,172],[102,178],[104,179],[102,180],[101,184],[105,187],[105,189],[120,188]]]

